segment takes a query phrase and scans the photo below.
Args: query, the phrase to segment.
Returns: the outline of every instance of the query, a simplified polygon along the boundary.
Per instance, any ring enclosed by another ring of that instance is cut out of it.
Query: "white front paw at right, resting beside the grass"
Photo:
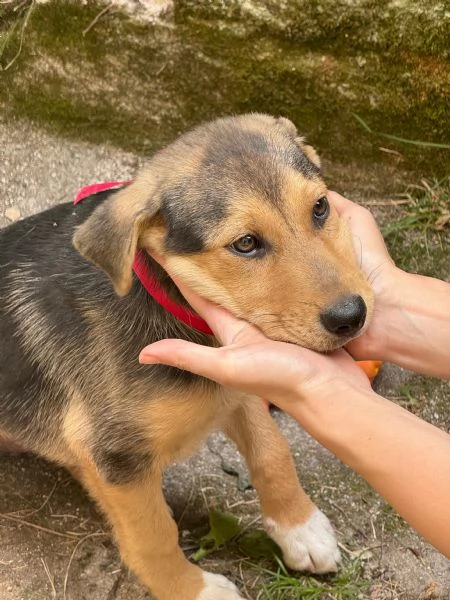
[[[318,508],[303,525],[282,527],[273,519],[264,521],[267,533],[280,546],[285,564],[295,571],[335,573],[340,552],[333,528]]]

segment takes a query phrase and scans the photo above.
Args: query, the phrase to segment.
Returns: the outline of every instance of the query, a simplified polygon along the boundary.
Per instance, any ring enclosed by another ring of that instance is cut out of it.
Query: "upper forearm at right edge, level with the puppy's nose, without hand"
[[[395,298],[383,307],[383,317],[383,334],[368,349],[371,358],[450,379],[449,283],[398,271]]]

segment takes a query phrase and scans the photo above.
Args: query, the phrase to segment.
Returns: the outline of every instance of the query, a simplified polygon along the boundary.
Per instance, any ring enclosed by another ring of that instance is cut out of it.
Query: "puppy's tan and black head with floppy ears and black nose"
[[[284,118],[219,119],[159,151],[77,230],[79,252],[119,294],[138,248],[272,339],[326,351],[373,307],[320,162]]]

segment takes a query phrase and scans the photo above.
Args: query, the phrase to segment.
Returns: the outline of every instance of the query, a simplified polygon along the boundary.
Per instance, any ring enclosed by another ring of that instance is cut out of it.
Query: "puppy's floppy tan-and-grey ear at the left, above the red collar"
[[[150,178],[136,179],[96,208],[73,236],[78,252],[105,271],[120,296],[131,289],[139,239],[159,210],[153,188]]]

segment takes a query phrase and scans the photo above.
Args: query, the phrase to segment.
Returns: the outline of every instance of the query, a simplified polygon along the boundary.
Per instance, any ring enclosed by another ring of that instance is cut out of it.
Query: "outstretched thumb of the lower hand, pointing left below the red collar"
[[[221,348],[201,346],[184,340],[167,339],[150,344],[141,350],[139,362],[145,365],[169,365],[222,384],[226,384],[228,379]]]

